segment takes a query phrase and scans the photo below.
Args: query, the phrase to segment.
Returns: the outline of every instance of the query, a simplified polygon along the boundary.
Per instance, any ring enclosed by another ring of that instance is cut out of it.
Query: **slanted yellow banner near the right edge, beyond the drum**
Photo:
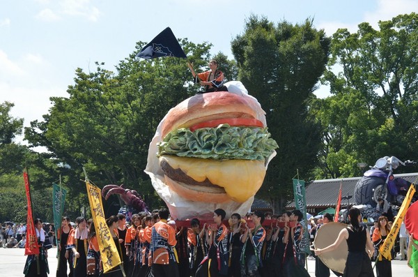
[[[406,211],[411,203],[412,197],[415,194],[414,184],[411,184],[408,193],[405,196],[405,199],[402,202],[401,209],[399,209],[398,214],[395,217],[394,224],[392,225],[392,229],[390,230],[385,242],[380,246],[379,252],[380,254],[389,259],[390,252],[394,247],[396,236],[398,235],[399,229],[401,228],[401,223],[403,218],[405,218]]]

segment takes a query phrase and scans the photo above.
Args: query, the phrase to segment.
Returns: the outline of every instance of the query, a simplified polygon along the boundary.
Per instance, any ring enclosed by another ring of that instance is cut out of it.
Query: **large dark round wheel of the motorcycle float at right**
[[[362,177],[355,185],[354,194],[357,204],[370,204],[371,207],[376,207],[378,198],[387,197],[385,181],[378,177]]]

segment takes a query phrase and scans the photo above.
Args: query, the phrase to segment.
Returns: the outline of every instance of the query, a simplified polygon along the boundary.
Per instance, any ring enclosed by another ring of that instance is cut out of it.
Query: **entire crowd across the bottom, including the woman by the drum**
[[[295,276],[296,270],[297,276],[309,276],[303,269],[306,246],[311,244],[323,225],[332,222],[330,214],[324,214],[315,222],[311,220],[309,241],[309,237],[304,236],[301,224],[304,215],[299,210],[286,211],[280,216],[260,211],[247,214],[244,218],[240,214],[233,214],[226,220],[225,216],[224,210],[217,209],[211,223],[202,224],[199,219],[193,218],[187,226],[185,221],[172,220],[167,209],[160,209],[152,215],[134,214],[129,224],[123,214],[110,216],[106,220],[107,226],[123,263],[106,274],[103,272],[93,220],[80,216],[75,220],[76,227],[72,227],[70,218],[63,217],[58,230],[59,262],[56,276],[288,277]],[[362,224],[358,209],[350,209],[348,217],[350,225],[341,230],[334,244],[308,253],[311,258],[316,258],[316,277],[329,277],[331,272],[316,255],[335,250],[343,241],[348,244],[346,265],[357,266],[346,266],[344,275],[334,272],[336,276],[374,276],[371,267],[373,260],[376,260],[378,277],[392,276],[392,257],[378,255],[378,248],[390,232],[387,217],[380,216],[371,230]],[[263,225],[265,218],[272,219],[269,225]],[[39,218],[34,220],[34,224],[40,253],[28,255],[24,274],[46,277],[49,273],[48,249],[52,248],[48,236],[50,230]],[[401,229],[400,232],[406,230]],[[21,243],[24,237],[23,234],[21,241],[17,241],[10,235],[9,239],[15,240],[11,247],[24,248],[24,242]],[[408,265],[416,271],[418,245],[412,239],[412,234],[408,234],[408,239],[408,255],[401,251],[401,259],[408,259]]]

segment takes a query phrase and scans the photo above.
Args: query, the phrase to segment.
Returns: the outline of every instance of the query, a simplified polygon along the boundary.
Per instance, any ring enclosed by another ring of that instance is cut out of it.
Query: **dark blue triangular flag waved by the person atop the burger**
[[[150,41],[137,54],[142,59],[154,59],[158,57],[178,57],[186,59],[186,54],[178,43],[170,27],[167,27]]]

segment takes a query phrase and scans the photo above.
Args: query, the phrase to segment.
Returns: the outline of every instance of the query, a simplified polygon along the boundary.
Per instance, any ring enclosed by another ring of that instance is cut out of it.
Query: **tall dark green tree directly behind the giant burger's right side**
[[[309,114],[316,84],[325,70],[330,38],[311,20],[302,24],[251,15],[232,42],[238,77],[261,103],[279,144],[258,196],[279,213],[293,195],[292,178],[310,177],[320,147],[320,126]]]

